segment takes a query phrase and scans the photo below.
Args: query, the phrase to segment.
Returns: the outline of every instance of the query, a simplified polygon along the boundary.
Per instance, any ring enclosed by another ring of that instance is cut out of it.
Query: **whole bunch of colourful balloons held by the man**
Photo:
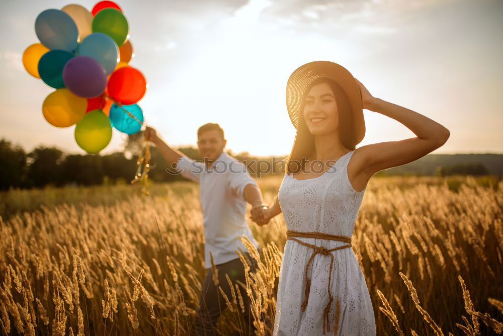
[[[75,125],[75,141],[88,153],[109,144],[112,127],[129,135],[140,130],[143,112],[136,103],[146,80],[128,64],[133,46],[117,4],[102,1],[91,12],[80,5],[45,10],[35,32],[40,43],[25,50],[23,64],[56,89],[42,104],[51,125]]]

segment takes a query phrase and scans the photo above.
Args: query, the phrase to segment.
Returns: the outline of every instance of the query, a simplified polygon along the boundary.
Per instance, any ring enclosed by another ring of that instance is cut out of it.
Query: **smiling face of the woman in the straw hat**
[[[309,132],[322,135],[334,132],[339,127],[336,98],[328,83],[313,86],[305,98],[304,121]]]

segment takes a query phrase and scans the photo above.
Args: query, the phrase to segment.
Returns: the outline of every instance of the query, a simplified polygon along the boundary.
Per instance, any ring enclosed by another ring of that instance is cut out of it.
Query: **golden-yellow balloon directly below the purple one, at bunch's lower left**
[[[49,124],[69,127],[82,119],[88,108],[88,100],[62,88],[51,93],[42,104],[42,113]]]

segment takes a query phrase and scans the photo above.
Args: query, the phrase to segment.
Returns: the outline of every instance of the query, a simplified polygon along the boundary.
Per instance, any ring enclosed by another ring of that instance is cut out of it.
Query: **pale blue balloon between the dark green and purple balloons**
[[[76,53],[79,56],[89,56],[96,59],[109,75],[117,66],[119,47],[110,36],[103,33],[93,33],[80,42]]]

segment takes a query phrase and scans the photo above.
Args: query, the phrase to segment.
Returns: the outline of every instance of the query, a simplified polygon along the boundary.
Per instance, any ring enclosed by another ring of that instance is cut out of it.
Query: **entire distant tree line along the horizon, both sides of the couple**
[[[178,148],[192,159],[200,160],[201,156],[195,147]],[[149,179],[154,182],[181,181],[184,178],[170,169],[155,146],[150,146],[151,166]],[[269,175],[284,174],[284,157],[257,158],[247,152],[232,154],[246,164],[248,172],[254,178]],[[433,155],[433,156],[431,156]],[[427,157],[443,157],[443,162]],[[456,162],[450,163],[450,158],[456,155],[428,154],[415,162],[394,167],[376,173],[377,176],[392,175],[487,175],[490,172],[483,163]],[[498,156],[499,157],[499,156]],[[39,146],[26,152],[21,146],[7,139],[0,139],[0,190],[10,188],[43,188],[51,185],[60,187],[68,184],[91,186],[103,183],[129,183],[136,173],[137,156],[127,158],[124,152],[108,155],[100,154],[69,154],[56,147]],[[421,162],[420,162],[421,161]],[[432,161],[432,162],[428,162]],[[275,169],[272,169],[275,167]],[[399,170],[404,170],[405,173]],[[166,171],[167,170],[167,171]],[[431,171],[425,174],[425,171]]]

